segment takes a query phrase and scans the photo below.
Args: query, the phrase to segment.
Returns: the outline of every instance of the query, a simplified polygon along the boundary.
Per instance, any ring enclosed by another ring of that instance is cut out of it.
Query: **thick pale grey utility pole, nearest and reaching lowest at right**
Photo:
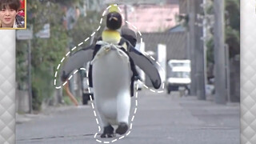
[[[219,104],[226,103],[224,6],[223,0],[214,0],[214,85],[215,102]]]

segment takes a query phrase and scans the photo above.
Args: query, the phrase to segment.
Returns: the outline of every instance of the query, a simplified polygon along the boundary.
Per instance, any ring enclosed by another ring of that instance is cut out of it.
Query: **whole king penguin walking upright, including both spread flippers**
[[[69,74],[90,62],[92,82],[94,84],[94,103],[104,127],[101,138],[126,134],[129,129],[130,83],[132,70],[130,59],[149,76],[155,89],[161,86],[161,78],[154,63],[146,58],[131,44],[122,38],[122,16],[111,11],[106,16],[106,30],[102,32],[102,41],[79,50],[73,54],[62,68],[62,81]]]

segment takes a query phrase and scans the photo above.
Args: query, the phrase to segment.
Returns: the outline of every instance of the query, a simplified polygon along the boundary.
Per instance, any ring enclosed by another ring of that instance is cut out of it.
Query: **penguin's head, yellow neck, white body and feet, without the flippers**
[[[122,16],[110,12],[106,16],[106,30],[102,32],[102,45],[91,64],[94,83],[94,102],[104,126],[101,138],[114,136],[114,125],[118,125],[117,134],[128,130],[130,114],[130,61],[129,56],[118,46],[121,34]]]

